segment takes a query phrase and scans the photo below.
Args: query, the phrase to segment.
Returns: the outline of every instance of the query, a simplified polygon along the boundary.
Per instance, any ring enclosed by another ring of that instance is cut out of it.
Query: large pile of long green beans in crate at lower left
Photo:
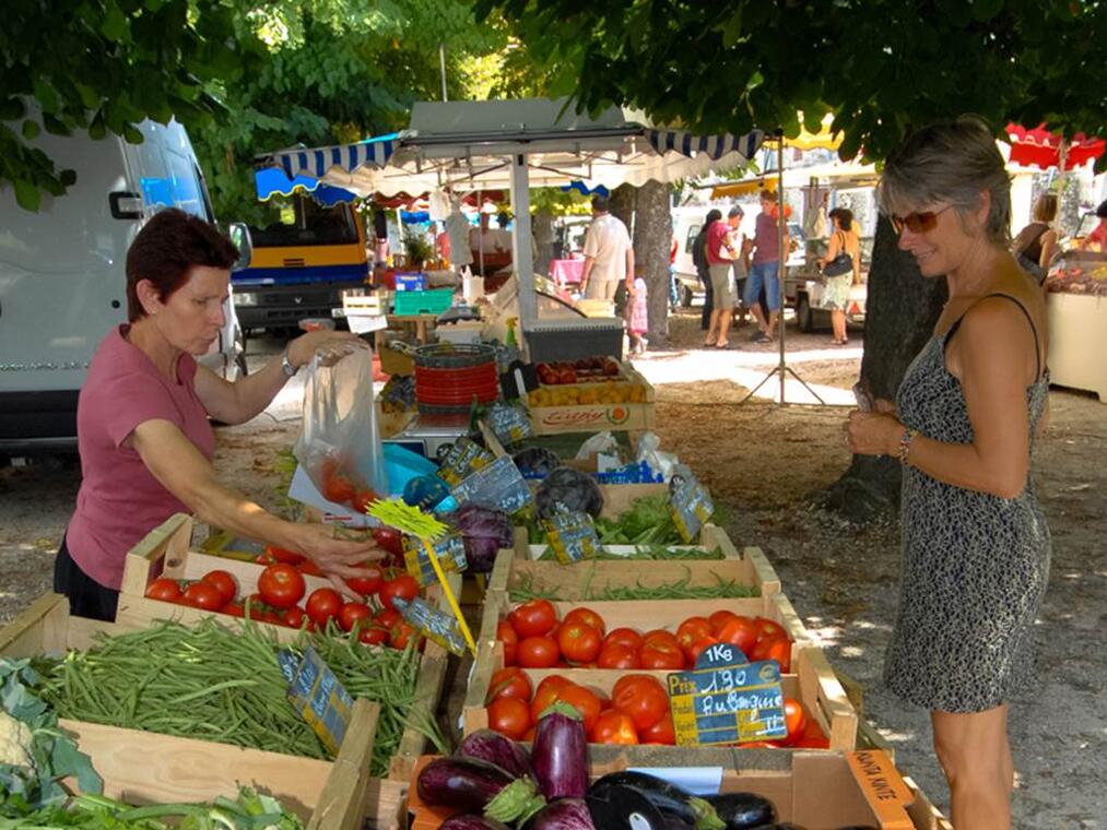
[[[411,723],[418,653],[371,649],[355,640],[301,634],[280,644],[254,625],[228,629],[207,619],[195,627],[162,622],[39,665],[41,694],[60,717],[215,740],[241,747],[330,759],[330,754],[286,696],[277,651],[302,654],[312,645],[353,697],[381,704],[373,775]],[[439,748],[430,720],[411,723]]]

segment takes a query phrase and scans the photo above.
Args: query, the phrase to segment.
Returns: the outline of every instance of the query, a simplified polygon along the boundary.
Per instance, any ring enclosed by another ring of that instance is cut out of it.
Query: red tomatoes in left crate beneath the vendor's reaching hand
[[[418,583],[392,569],[366,566],[365,570],[366,577],[346,580],[363,602],[348,601],[333,588],[317,588],[308,594],[302,569],[289,562],[267,566],[248,603],[239,599],[238,581],[224,570],[209,571],[195,582],[156,579],[146,589],[146,596],[239,619],[247,615],[248,604],[249,618],[259,622],[308,631],[334,625],[344,632],[356,630],[358,639],[369,645],[406,647],[417,632],[401,618],[393,600],[411,602],[418,595]]]

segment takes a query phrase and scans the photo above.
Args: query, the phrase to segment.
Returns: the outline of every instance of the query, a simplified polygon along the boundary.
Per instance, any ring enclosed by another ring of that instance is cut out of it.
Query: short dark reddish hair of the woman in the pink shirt
[[[238,249],[214,225],[177,208],[155,214],[127,250],[127,320],[146,317],[138,302],[142,280],[149,280],[165,302],[196,266],[229,270],[237,259]]]

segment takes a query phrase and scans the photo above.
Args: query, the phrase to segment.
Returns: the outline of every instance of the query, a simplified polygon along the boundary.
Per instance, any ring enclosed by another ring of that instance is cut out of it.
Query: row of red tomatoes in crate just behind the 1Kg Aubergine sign
[[[504,665],[524,668],[681,671],[693,668],[700,652],[715,643],[734,645],[752,663],[775,660],[782,674],[792,668],[792,640],[779,623],[731,611],[690,616],[675,634],[664,629],[609,632],[600,615],[587,608],[576,608],[558,621],[549,600],[530,600],[499,622],[496,639],[504,644]]]

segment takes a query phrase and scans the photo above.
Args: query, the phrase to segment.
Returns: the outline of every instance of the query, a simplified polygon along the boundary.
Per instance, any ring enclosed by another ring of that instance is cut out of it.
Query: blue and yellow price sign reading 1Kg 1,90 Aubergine
[[[788,734],[780,666],[749,663],[728,643],[704,649],[691,672],[669,675],[673,728],[680,746],[773,740]]]

